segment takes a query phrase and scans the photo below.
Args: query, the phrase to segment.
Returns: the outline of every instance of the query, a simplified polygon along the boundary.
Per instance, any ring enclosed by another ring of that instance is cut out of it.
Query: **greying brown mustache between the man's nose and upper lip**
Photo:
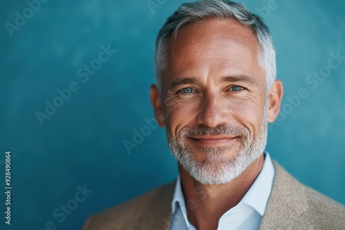
[[[180,136],[186,138],[188,136],[250,136],[250,132],[245,127],[238,127],[234,125],[217,125],[216,127],[208,127],[206,125],[197,125],[195,127],[184,127],[179,132]]]

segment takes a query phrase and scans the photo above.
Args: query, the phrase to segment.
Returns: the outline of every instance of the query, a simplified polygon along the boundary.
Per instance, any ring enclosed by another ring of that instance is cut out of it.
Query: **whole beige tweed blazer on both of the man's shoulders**
[[[345,206],[302,185],[275,165],[273,188],[259,229],[345,229]],[[175,182],[90,216],[84,230],[170,228]]]

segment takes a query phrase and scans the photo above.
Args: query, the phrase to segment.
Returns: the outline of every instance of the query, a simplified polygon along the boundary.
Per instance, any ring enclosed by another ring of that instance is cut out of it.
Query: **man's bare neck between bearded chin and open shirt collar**
[[[222,185],[204,185],[179,165],[188,220],[197,229],[217,229],[219,218],[242,200],[264,165],[264,154],[234,180]]]

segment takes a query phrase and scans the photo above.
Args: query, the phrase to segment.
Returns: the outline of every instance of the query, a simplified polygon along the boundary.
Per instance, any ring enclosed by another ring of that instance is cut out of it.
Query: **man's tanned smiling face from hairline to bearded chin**
[[[151,100],[164,112],[172,154],[199,182],[229,182],[264,150],[269,105],[259,50],[250,28],[229,19],[190,23],[167,43],[160,102],[152,92]]]

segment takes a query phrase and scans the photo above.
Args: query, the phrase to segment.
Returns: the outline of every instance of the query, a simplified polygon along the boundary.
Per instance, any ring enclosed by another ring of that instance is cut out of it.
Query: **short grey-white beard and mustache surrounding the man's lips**
[[[264,151],[267,141],[267,105],[264,106],[264,116],[257,135],[250,138],[246,127],[221,125],[215,128],[200,125],[184,127],[179,137],[172,136],[171,129],[166,125],[168,145],[172,155],[188,171],[195,180],[206,185],[219,185],[237,178],[248,166],[253,163]],[[188,147],[186,138],[192,135],[233,135],[241,138],[239,151],[233,159],[222,158],[222,153],[229,147],[203,147],[201,154],[206,154],[206,160],[199,162],[193,157],[193,151]]]

